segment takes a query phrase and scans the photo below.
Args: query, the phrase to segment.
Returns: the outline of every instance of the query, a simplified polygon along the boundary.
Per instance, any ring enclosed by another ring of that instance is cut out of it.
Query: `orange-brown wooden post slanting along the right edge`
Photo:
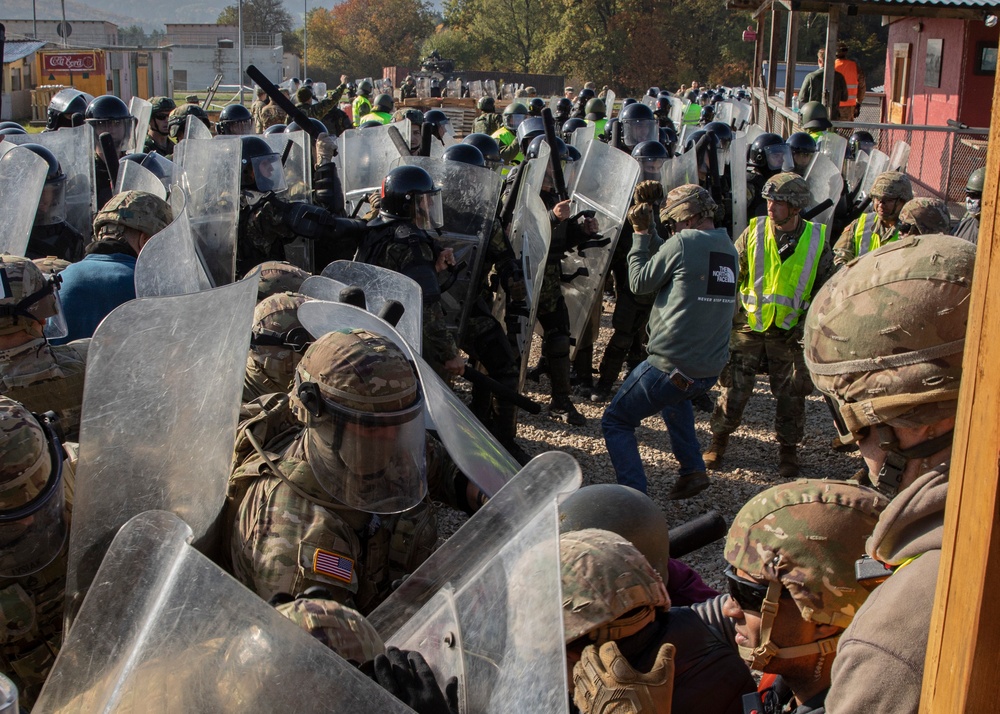
[[[948,486],[944,545],[931,618],[922,714],[1000,711],[1000,74],[994,83],[986,190],[962,390]],[[891,682],[885,686],[891,687]]]

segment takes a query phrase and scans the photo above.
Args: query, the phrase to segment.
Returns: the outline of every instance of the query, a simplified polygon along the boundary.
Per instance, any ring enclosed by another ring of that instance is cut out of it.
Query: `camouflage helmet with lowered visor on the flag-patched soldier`
[[[295,369],[290,402],[306,425],[316,483],[335,500],[390,514],[424,497],[424,398],[416,368],[392,340],[367,330],[323,335]]]

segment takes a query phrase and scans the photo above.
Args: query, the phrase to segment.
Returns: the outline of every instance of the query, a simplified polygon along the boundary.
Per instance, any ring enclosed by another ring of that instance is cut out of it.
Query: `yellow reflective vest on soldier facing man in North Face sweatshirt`
[[[812,300],[819,258],[826,244],[826,226],[805,224],[795,252],[784,261],[770,218],[752,218],[747,230],[746,273],[740,275],[740,302],[754,332],[776,325],[790,330]]]

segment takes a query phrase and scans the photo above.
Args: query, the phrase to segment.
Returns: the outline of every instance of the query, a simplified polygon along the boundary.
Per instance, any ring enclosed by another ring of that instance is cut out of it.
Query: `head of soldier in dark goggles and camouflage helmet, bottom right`
[[[729,529],[722,611],[750,667],[792,690],[785,711],[823,711],[837,641],[868,596],[854,562],[887,503],[853,481],[802,479],[755,496]]]

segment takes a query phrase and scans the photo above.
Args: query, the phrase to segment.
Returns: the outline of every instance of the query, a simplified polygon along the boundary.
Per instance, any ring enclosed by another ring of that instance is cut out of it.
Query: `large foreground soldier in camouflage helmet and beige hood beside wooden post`
[[[892,498],[866,548],[888,579],[840,639],[834,714],[920,706],[975,258],[960,238],[900,239],[838,272],[806,317],[810,375]]]

